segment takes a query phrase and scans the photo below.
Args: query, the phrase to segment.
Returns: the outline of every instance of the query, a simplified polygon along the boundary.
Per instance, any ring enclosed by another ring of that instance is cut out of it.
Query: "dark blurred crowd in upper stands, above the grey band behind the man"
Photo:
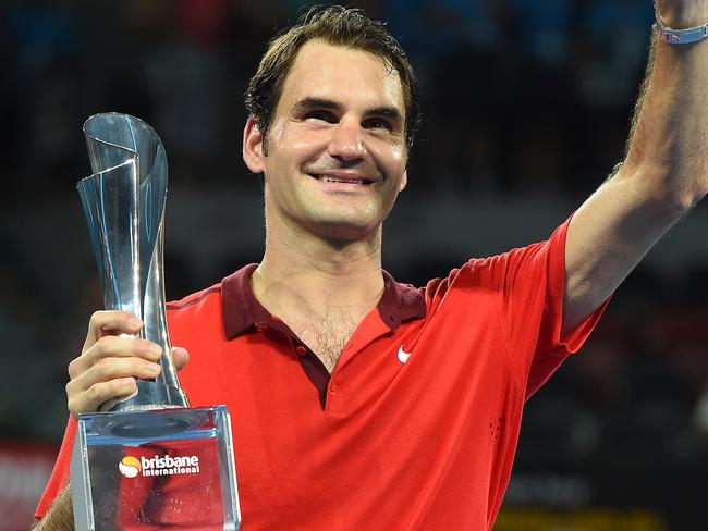
[[[368,0],[413,60],[419,190],[585,194],[622,152],[643,76],[649,0]],[[173,176],[240,164],[242,94],[273,30],[308,2],[4,2],[0,149],[11,186],[65,193],[85,171],[76,124],[144,118]],[[444,153],[444,157],[441,157]]]

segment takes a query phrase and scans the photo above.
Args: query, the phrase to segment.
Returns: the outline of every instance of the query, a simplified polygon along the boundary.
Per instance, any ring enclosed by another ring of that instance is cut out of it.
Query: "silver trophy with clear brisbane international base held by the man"
[[[237,530],[230,417],[190,408],[170,357],[162,233],[167,157],[145,122],[105,113],[84,124],[93,175],[77,184],[106,309],[143,320],[162,347],[157,379],[77,418],[71,461],[77,531]]]

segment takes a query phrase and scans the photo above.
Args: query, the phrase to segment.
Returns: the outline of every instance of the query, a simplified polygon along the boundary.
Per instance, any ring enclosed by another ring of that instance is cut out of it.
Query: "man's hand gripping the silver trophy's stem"
[[[161,347],[130,336],[142,328],[142,321],[124,311],[97,311],[91,316],[82,354],[69,363],[66,397],[74,416],[97,411],[108,400],[129,397],[136,391],[136,378],[152,379],[160,373],[157,361]],[[174,347],[171,355],[178,370],[187,362],[184,348]]]

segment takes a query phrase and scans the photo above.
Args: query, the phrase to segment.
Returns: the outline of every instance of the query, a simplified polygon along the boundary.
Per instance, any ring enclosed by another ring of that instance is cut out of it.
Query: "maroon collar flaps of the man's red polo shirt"
[[[251,275],[257,263],[246,266],[221,281],[221,306],[227,337],[233,339],[252,326],[263,326],[272,316],[256,299],[251,288]],[[377,306],[383,322],[391,329],[402,321],[425,316],[425,298],[415,287],[395,282],[383,271],[383,295]]]

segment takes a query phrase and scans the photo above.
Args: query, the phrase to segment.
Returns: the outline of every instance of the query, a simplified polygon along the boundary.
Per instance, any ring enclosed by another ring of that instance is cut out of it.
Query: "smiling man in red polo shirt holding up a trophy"
[[[660,1],[657,16],[698,26],[708,0]],[[271,42],[243,141],[265,178],[264,259],[169,309],[192,357],[172,353],[192,404],[233,416],[244,530],[492,527],[524,400],[706,193],[706,64],[708,42],[655,35],[611,178],[548,242],[414,289],[381,270],[381,224],[417,122],[405,57],[382,25],[341,8]],[[157,373],[159,348],[119,336],[139,328],[122,312],[91,317],[69,368],[73,415]],[[72,527],[73,429],[37,529]]]

